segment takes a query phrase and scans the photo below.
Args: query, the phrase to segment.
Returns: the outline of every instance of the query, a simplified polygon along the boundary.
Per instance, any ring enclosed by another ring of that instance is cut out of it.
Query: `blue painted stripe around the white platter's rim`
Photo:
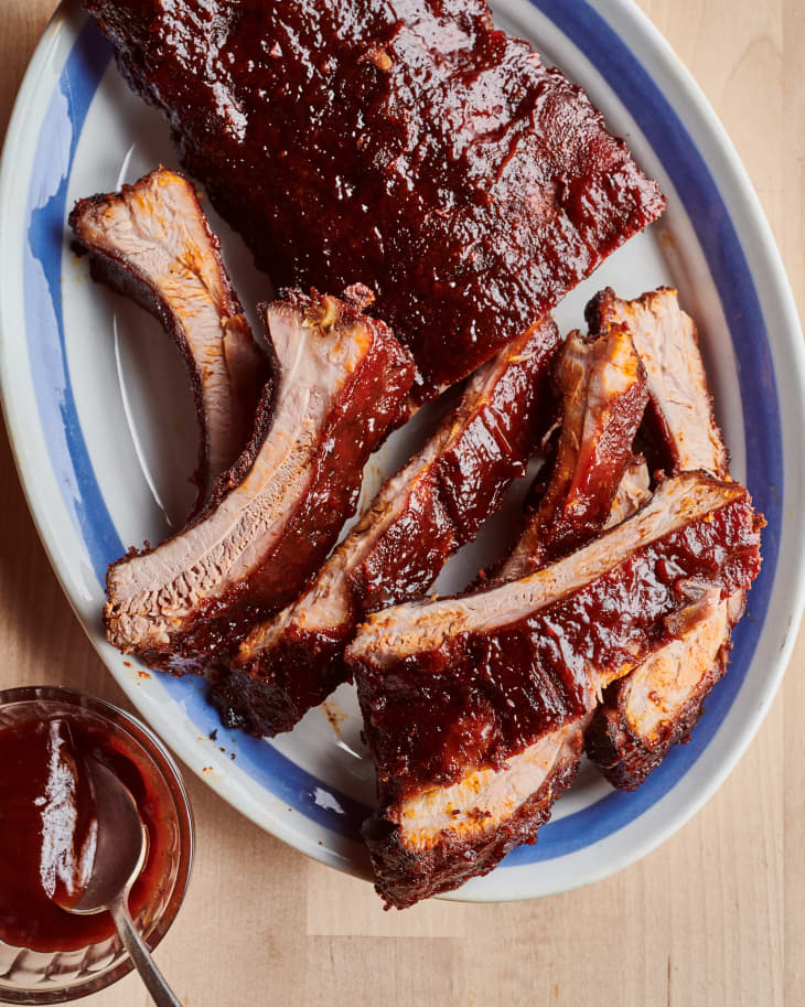
[[[675,749],[634,794],[613,792],[548,823],[534,847],[504,866],[562,857],[607,838],[653,807],[710,743],[738,696],[769,607],[776,568],[783,496],[780,407],[765,321],[743,248],[723,199],[693,138],[652,79],[607,21],[584,0],[532,0],[583,52],[635,119],[668,173],[695,228],[716,283],[738,362],[748,459],[747,482],[768,521],[763,568],[749,611],[734,633],[730,673],[716,686],[689,744]],[[39,135],[26,218],[25,326],[29,360],[50,462],[99,583],[125,546],[115,528],[80,429],[65,351],[61,301],[67,181],[93,97],[109,65],[106,41],[87,23],[78,34]],[[202,735],[219,727],[198,679],[162,675]],[[238,767],[316,824],[356,838],[368,808],[308,773],[272,744],[240,737]],[[329,800],[322,801],[322,791]]]

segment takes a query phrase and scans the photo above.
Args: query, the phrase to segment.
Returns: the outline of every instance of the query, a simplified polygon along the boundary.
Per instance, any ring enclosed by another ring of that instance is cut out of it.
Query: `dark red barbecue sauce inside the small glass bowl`
[[[148,858],[131,890],[137,918],[170,875],[169,808],[155,770],[114,726],[89,715],[23,720],[0,729],[0,940],[33,951],[75,951],[110,938],[108,912],[79,917],[97,831],[85,760],[129,789],[148,832]]]

